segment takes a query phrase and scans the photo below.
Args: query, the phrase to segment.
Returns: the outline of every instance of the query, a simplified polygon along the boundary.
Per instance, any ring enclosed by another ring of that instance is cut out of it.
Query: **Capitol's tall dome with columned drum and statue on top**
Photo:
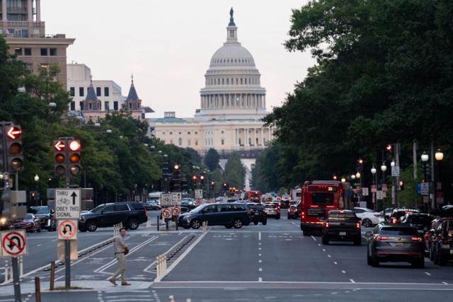
[[[260,72],[252,54],[238,41],[233,13],[231,8],[226,42],[214,52],[200,91],[196,116],[203,120],[260,120],[267,113]]]

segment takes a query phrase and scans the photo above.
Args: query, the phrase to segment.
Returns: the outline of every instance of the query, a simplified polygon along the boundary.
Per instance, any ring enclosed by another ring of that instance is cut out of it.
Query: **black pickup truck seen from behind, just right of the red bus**
[[[328,211],[322,233],[323,245],[328,245],[331,240],[352,241],[354,245],[362,243],[360,218],[352,210]]]

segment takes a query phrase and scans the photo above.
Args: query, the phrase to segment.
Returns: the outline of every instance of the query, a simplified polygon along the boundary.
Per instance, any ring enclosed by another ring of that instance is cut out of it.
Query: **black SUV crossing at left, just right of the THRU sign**
[[[120,222],[125,228],[135,230],[140,223],[146,222],[147,219],[147,210],[140,202],[101,204],[89,213],[80,216],[79,230],[94,232],[98,226],[113,226]]]

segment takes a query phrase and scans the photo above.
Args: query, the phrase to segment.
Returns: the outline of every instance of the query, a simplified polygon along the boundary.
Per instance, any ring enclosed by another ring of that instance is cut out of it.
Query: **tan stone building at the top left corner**
[[[0,0],[0,35],[9,45],[9,52],[27,64],[35,74],[52,64],[59,66],[56,79],[67,89],[67,47],[75,39],[63,34],[45,33],[41,21],[40,0]]]

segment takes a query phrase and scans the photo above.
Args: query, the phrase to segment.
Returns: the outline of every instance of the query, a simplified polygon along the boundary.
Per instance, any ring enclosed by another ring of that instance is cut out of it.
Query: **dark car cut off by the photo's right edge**
[[[453,260],[453,218],[442,217],[431,231],[430,259],[435,265],[445,265]]]

